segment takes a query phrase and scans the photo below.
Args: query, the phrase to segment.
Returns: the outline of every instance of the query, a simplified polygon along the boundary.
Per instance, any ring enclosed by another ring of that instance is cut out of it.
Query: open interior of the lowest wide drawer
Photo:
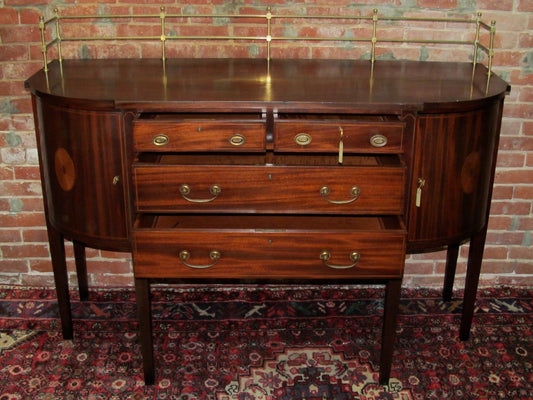
[[[251,232],[316,232],[346,231],[376,232],[403,231],[403,222],[397,216],[315,216],[315,215],[195,215],[141,214],[135,223],[136,230],[227,230]]]

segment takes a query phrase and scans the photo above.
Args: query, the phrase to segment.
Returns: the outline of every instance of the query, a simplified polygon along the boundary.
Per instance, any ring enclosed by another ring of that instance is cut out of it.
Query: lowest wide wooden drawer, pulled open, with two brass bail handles
[[[137,278],[400,278],[397,217],[143,215]]]

